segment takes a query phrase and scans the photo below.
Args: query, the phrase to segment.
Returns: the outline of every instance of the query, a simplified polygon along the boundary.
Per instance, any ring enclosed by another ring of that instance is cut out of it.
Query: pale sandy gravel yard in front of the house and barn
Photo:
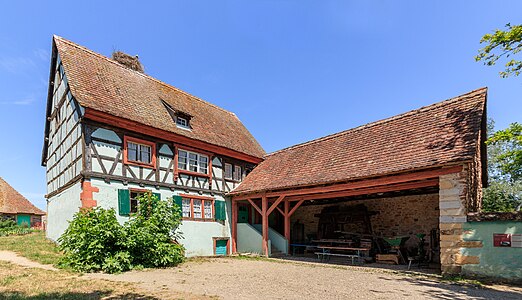
[[[522,299],[522,289],[515,287],[477,288],[364,267],[238,258],[88,276],[135,282],[153,291],[170,289],[223,299]]]

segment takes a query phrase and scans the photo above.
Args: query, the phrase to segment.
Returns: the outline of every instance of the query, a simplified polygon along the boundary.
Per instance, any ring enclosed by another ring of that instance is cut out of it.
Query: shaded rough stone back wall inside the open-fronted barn
[[[352,206],[364,204],[371,216],[374,234],[383,237],[403,236],[410,233],[429,234],[439,225],[439,195],[413,195],[393,198],[353,200],[327,205],[301,206],[292,216],[292,223],[299,220],[304,224],[305,236],[314,235],[318,229],[319,214],[326,206]]]

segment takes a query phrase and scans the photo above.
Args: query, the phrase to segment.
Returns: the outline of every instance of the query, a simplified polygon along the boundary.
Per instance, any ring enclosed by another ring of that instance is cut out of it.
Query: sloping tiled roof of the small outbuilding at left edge
[[[0,213],[45,215],[45,212],[29,202],[2,177],[0,177]]]

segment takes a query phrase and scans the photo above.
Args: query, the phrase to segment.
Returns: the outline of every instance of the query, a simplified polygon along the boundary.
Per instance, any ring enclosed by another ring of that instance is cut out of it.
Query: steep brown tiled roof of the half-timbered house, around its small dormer
[[[234,113],[61,37],[54,42],[81,106],[250,156],[265,155]],[[162,100],[192,116],[191,131],[176,126]]]

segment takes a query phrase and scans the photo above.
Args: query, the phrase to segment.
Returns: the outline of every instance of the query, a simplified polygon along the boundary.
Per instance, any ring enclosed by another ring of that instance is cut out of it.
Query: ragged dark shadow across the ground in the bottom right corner
[[[423,286],[424,288],[428,287],[428,289],[423,290],[422,293],[424,293],[426,297],[433,299],[522,299],[522,289],[520,291],[501,291],[471,284],[459,284],[423,278],[379,278],[381,280],[408,282],[413,285]],[[404,296],[407,296],[407,290],[402,292],[405,293]]]

